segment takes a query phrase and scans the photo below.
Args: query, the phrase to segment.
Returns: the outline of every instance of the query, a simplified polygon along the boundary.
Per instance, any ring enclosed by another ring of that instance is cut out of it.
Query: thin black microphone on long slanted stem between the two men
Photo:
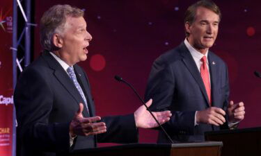
[[[132,88],[132,90],[134,91],[134,93],[136,94],[136,96],[138,96],[138,98],[140,99],[141,103],[143,103],[143,105],[145,105],[145,102],[143,101],[143,99],[141,98],[141,96],[138,94],[138,92],[136,92],[136,89],[134,89],[134,87],[132,87],[132,85],[130,85],[129,83],[127,83],[125,80],[123,80],[120,76],[114,76],[114,78],[116,80],[118,80],[119,82],[125,83],[126,85],[128,85],[129,87]],[[156,117],[152,114],[150,108],[145,105],[145,107],[147,108],[147,110],[150,112],[151,116],[153,117],[153,119],[155,119],[155,121],[157,122],[157,124],[159,125],[159,127],[161,128],[161,130],[164,132],[164,134],[166,135],[166,137],[168,137],[168,141],[171,142],[171,144],[174,144],[174,142],[172,141],[171,137],[168,135],[168,133],[166,132],[166,130],[159,124],[159,121],[157,121]]]

